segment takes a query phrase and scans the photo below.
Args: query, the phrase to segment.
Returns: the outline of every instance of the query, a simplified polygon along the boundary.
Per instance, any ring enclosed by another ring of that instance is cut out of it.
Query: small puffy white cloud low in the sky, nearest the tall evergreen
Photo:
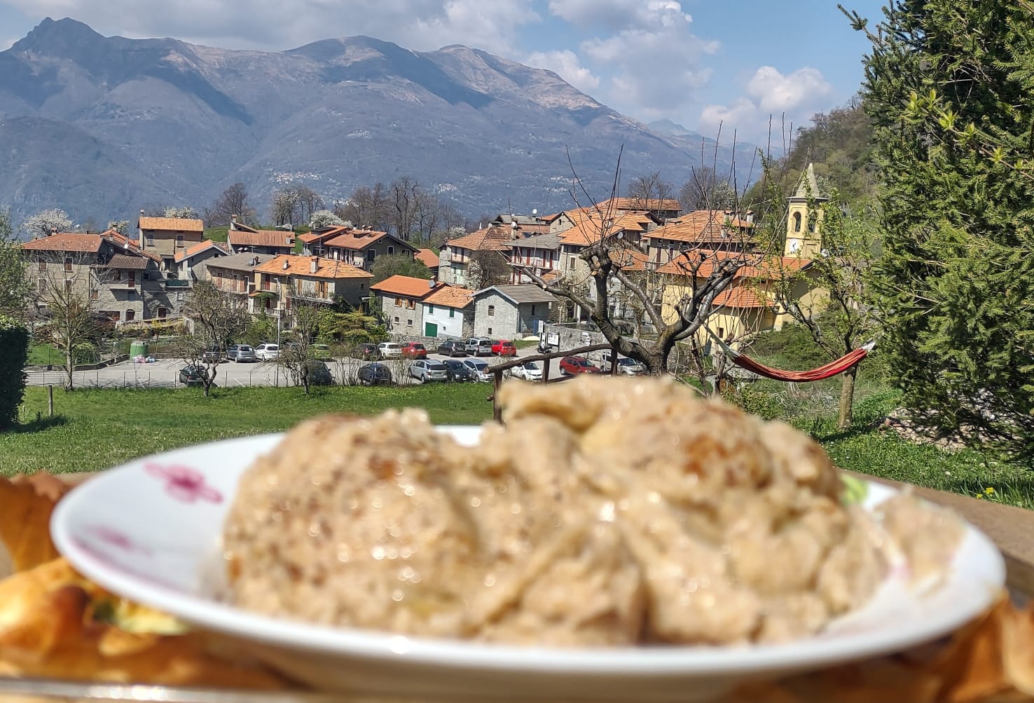
[[[826,106],[833,89],[816,68],[798,68],[784,75],[773,66],[761,66],[747,82],[747,95],[729,104],[710,104],[700,113],[701,131],[737,129],[740,136],[758,140],[768,133],[771,121],[781,139],[779,125],[787,128],[804,124],[815,112]]]

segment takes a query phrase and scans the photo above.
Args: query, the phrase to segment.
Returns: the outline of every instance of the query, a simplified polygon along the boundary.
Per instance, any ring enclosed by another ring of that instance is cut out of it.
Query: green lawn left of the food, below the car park
[[[323,412],[372,415],[419,406],[436,424],[491,419],[488,384],[405,388],[56,390],[55,418],[47,417],[47,389],[26,389],[24,425],[0,434],[0,475],[48,470],[94,471],[134,457],[200,441],[277,432]],[[37,416],[38,414],[38,416]]]

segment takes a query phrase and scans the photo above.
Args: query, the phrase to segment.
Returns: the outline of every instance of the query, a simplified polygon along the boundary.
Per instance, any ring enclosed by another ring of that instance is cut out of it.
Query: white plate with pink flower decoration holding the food
[[[443,428],[466,444],[477,427]],[[771,678],[937,639],[992,604],[1005,580],[994,544],[969,527],[947,579],[916,592],[893,577],[820,636],[781,645],[610,649],[508,647],[340,630],[239,610],[213,595],[212,564],[238,478],[279,435],[166,452],[98,475],[69,493],[54,542],[115,593],[236,636],[296,678],[332,690],[457,700],[706,700]],[[893,491],[871,483],[866,507]]]

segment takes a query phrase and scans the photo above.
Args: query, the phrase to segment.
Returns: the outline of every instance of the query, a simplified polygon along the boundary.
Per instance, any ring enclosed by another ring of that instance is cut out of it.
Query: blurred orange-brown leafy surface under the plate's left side
[[[175,618],[105,591],[58,557],[48,519],[67,489],[45,473],[0,479],[0,552],[14,557],[13,573],[0,573],[0,676],[285,685],[226,641],[186,633]]]

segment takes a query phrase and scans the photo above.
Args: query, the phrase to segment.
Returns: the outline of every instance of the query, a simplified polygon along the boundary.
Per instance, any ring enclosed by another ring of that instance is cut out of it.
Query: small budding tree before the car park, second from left
[[[180,358],[197,368],[207,398],[218,366],[225,361],[226,345],[247,330],[247,309],[242,298],[223,293],[211,280],[203,278],[194,283],[183,314],[193,331],[181,339]]]

